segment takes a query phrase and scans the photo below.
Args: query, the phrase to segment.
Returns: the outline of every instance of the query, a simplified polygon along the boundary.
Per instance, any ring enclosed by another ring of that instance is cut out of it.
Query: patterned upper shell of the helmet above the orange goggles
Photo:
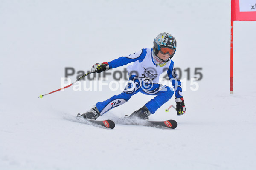
[[[157,42],[158,45],[166,46],[169,48],[176,49],[176,46],[177,46],[175,37],[173,37],[171,34],[166,32],[158,34],[155,41]]]

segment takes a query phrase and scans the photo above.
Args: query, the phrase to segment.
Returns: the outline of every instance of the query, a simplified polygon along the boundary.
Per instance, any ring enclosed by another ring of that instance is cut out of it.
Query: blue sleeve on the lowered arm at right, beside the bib
[[[181,88],[181,82],[179,79],[177,79],[178,74],[176,73],[175,68],[173,67],[173,61],[171,61],[171,64],[169,66],[169,69],[167,70],[168,77],[170,81],[172,82],[172,86],[175,89],[175,97],[181,98],[182,96],[182,88]]]

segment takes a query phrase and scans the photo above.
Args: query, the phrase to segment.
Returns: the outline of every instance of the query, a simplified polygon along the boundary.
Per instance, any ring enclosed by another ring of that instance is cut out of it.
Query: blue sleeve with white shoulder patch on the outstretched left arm
[[[108,65],[109,65],[109,68],[116,68],[116,67],[120,67],[123,65],[127,65],[128,63],[131,63],[131,62],[135,62],[137,60],[142,61],[145,58],[146,54],[147,54],[146,48],[141,49],[137,53],[130,54],[125,57],[119,57],[118,59],[114,59],[114,60],[108,62]]]

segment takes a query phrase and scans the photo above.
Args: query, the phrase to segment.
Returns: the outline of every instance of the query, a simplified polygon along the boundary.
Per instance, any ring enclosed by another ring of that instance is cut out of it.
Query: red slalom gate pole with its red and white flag
[[[231,0],[230,94],[233,94],[233,21],[256,21],[256,0]]]

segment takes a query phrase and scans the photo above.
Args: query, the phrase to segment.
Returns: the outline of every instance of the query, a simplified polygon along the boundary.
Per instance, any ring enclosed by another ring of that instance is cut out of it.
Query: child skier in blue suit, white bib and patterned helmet
[[[150,114],[154,114],[165,102],[171,99],[174,91],[172,88],[158,84],[159,76],[167,70],[169,79],[175,89],[175,102],[177,115],[183,115],[186,111],[180,80],[177,80],[177,74],[171,58],[175,54],[177,42],[175,37],[169,33],[160,33],[154,39],[153,48],[144,48],[137,53],[119,57],[110,62],[96,63],[92,66],[92,72],[100,73],[111,68],[129,65],[127,70],[130,75],[128,84],[124,91],[103,102],[98,102],[89,111],[81,116],[85,119],[96,120],[100,115],[110,109],[127,102],[131,96],[141,92],[147,95],[157,95],[151,99],[142,108],[134,111],[130,117],[138,117],[148,120]]]

